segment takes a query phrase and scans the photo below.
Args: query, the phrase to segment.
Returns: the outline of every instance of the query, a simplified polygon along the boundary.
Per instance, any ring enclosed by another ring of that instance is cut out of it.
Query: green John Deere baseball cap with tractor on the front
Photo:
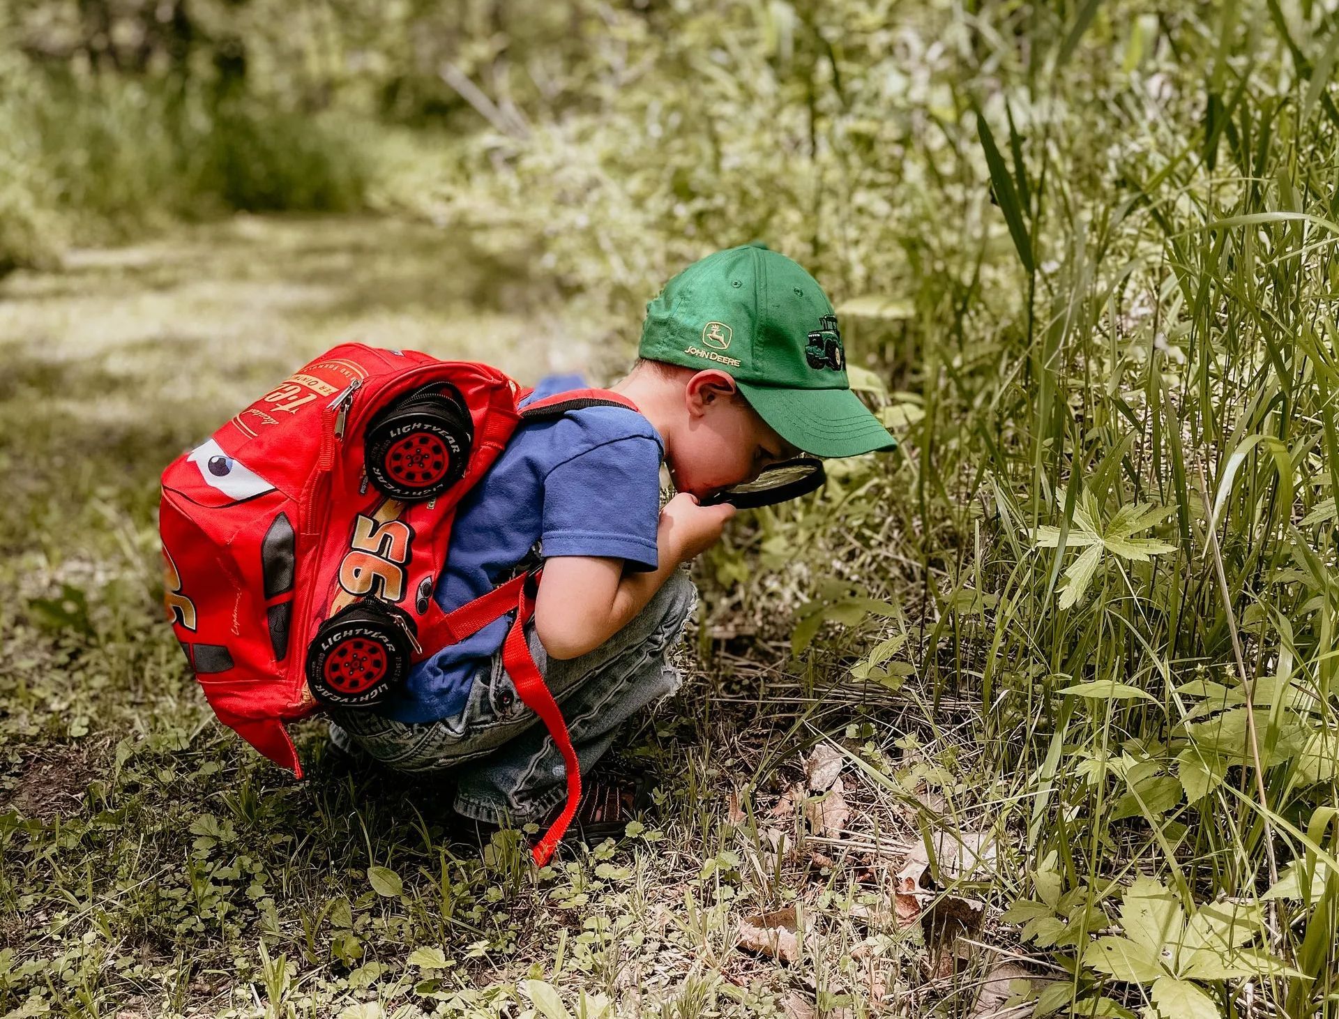
[[[850,391],[828,295],[761,244],[708,254],[670,280],[647,305],[637,352],[728,372],[781,438],[815,457],[897,446]]]

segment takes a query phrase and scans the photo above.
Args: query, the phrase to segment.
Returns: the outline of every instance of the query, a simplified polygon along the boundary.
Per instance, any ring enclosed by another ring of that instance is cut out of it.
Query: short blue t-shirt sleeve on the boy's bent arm
[[[608,556],[657,566],[660,445],[643,435],[595,446],[544,481],[544,556]]]

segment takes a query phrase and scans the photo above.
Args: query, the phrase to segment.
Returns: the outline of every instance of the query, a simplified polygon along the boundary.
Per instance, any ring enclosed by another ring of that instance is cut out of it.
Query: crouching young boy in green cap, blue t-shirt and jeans
[[[457,512],[437,586],[447,609],[544,562],[530,651],[586,774],[619,726],[674,692],[665,648],[696,604],[680,569],[734,514],[699,499],[801,451],[896,443],[852,394],[832,304],[762,245],[716,252],[647,305],[640,359],[611,388],[637,411],[588,407],[522,426]],[[536,396],[564,387],[548,380]],[[678,494],[660,507],[660,465]],[[502,668],[509,617],[419,664],[375,712],[331,710],[331,739],[400,771],[453,769],[455,810],[540,821],[565,798],[562,759]],[[586,783],[578,825],[627,798]]]

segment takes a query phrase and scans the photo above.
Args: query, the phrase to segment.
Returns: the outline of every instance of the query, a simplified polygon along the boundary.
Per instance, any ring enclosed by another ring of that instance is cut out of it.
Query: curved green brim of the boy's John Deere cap
[[[786,390],[738,379],[736,384],[781,438],[814,457],[858,457],[897,447],[897,439],[850,390]]]

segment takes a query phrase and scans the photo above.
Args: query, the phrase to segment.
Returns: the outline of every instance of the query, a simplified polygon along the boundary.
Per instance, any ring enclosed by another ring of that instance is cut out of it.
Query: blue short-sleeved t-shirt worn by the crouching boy
[[[582,384],[580,376],[553,376],[534,396]],[[663,455],[660,434],[625,407],[522,422],[457,509],[438,604],[451,611],[486,595],[532,552],[609,556],[631,569],[655,569]],[[502,647],[511,615],[415,665],[379,714],[400,722],[459,714],[475,674]]]

